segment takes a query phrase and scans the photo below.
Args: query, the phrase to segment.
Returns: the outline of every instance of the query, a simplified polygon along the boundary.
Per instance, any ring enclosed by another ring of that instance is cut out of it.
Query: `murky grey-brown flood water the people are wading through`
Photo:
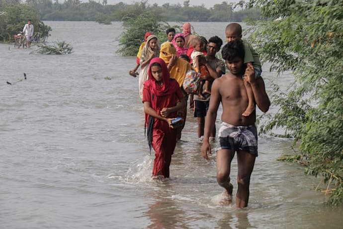
[[[327,197],[314,191],[319,179],[276,160],[292,152],[291,140],[271,136],[258,139],[249,207],[219,205],[215,154],[209,161],[200,155],[190,113],[171,178],[152,181],[138,78],[128,75],[135,57],[115,52],[121,23],[45,23],[53,29],[49,41],[67,41],[71,55],[0,44],[0,228],[342,227],[343,208],[327,207]],[[225,38],[226,24],[192,23],[207,38]],[[26,81],[6,85],[23,72]],[[267,64],[263,76],[269,91],[275,74]],[[291,81],[277,78],[283,88]],[[236,174],[234,159],[234,192]]]

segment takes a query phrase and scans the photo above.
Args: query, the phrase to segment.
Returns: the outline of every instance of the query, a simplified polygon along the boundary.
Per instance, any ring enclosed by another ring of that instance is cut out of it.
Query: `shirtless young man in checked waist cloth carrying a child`
[[[256,111],[243,116],[248,106],[248,95],[242,75],[250,83],[257,107],[267,112],[270,106],[261,77],[255,80],[253,66],[244,68],[244,46],[241,40],[227,43],[222,49],[222,57],[230,72],[214,80],[211,88],[211,100],[205,121],[205,133],[202,145],[202,156],[208,159],[211,154],[209,136],[215,125],[219,104],[222,103],[222,123],[218,131],[217,148],[217,182],[225,189],[225,199],[231,203],[233,185],[230,183],[231,161],[237,152],[238,189],[236,206],[248,206],[250,177],[257,157],[257,129],[255,126]]]

